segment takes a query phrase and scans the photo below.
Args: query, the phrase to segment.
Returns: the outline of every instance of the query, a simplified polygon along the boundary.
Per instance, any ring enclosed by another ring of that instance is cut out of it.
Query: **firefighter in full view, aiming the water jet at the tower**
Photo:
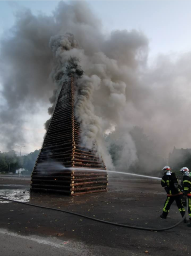
[[[185,208],[181,200],[182,193],[179,188],[180,185],[178,184],[178,179],[175,173],[170,172],[170,167],[168,165],[166,165],[162,170],[164,171],[164,175],[161,180],[161,185],[165,188],[165,191],[167,192],[167,200],[165,201],[163,212],[162,215],[160,215],[160,218],[167,218],[170,206],[172,205],[173,201],[176,201],[178,210],[183,217],[185,215]],[[185,219],[184,222],[187,223],[188,220]]]

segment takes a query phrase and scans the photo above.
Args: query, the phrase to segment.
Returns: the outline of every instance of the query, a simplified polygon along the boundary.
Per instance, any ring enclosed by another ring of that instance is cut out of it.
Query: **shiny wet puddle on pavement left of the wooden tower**
[[[0,197],[16,200],[19,202],[28,202],[30,194],[29,194],[29,191],[27,191],[26,189],[1,189]],[[0,199],[0,203],[11,203],[11,202]]]

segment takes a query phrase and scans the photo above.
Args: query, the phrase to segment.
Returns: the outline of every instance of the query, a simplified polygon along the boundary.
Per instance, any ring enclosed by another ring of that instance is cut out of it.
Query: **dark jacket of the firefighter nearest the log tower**
[[[162,187],[165,187],[165,191],[167,192],[168,197],[173,197],[182,194],[175,173],[171,173],[171,175],[167,175],[165,173],[165,175],[163,175],[162,177],[161,185]]]

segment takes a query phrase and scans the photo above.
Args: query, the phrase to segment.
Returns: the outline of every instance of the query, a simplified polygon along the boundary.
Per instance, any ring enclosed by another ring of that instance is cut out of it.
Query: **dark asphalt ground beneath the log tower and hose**
[[[29,193],[28,180],[0,180],[0,195],[126,225],[163,228],[178,222],[175,204],[160,219],[166,194],[157,180],[109,181],[108,192],[67,197]],[[24,193],[23,193],[24,192]],[[191,228],[169,231],[120,228],[58,211],[0,201],[2,256],[191,255]],[[17,244],[17,246],[16,246]]]

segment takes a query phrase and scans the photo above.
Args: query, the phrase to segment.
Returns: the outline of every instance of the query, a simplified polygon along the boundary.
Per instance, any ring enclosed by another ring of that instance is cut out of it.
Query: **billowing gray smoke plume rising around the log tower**
[[[143,127],[161,155],[174,145],[190,147],[191,54],[176,60],[159,56],[149,67],[148,49],[149,41],[141,31],[105,35],[86,2],[60,2],[49,17],[34,16],[29,10],[18,13],[14,27],[1,41],[2,144],[10,148],[23,139],[18,122],[23,124],[28,112],[39,111],[37,104],[47,104],[50,98],[52,114],[67,61],[76,57],[84,71],[75,100],[82,143],[91,148],[97,140],[109,168],[112,160],[105,132],[120,146],[117,168],[123,170],[138,160],[130,134],[133,126]]]

